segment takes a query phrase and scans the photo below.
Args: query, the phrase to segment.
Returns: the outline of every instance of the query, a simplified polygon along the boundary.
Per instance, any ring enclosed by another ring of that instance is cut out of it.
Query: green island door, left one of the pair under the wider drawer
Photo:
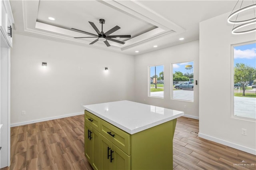
[[[102,166],[100,169],[112,170],[112,161],[110,162],[112,152],[111,147],[112,142],[100,134],[100,165]]]

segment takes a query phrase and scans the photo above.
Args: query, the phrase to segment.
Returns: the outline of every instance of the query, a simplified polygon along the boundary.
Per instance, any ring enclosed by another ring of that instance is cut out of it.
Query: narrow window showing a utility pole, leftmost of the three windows
[[[149,67],[149,96],[164,98],[164,66]]]

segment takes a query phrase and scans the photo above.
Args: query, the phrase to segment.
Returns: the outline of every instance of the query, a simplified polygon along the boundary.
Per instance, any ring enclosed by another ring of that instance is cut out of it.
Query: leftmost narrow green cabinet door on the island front
[[[91,126],[87,123],[84,123],[84,155],[87,158],[87,160],[92,164],[92,131]]]

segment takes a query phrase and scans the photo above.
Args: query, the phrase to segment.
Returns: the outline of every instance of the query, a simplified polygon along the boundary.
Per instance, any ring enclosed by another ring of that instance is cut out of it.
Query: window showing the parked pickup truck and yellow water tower
[[[172,99],[194,101],[194,61],[172,64]]]

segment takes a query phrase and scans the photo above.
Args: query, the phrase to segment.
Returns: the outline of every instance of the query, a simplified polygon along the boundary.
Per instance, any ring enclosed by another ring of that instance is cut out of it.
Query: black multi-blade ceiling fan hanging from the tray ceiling
[[[110,30],[108,30],[107,32],[104,33],[103,32],[103,24],[105,24],[104,19],[100,19],[101,32],[98,30],[98,28],[95,26],[95,24],[93,22],[89,21],[89,23],[91,24],[92,28],[97,32],[98,35],[92,34],[92,33],[89,33],[89,32],[85,32],[85,31],[82,31],[82,30],[78,30],[76,28],[71,28],[72,30],[76,30],[77,32],[81,32],[83,34],[88,34],[90,36],[93,36],[93,37],[74,37],[74,38],[97,38],[96,40],[94,40],[90,44],[94,44],[97,41],[101,41],[101,42],[104,42],[108,47],[110,46],[110,44],[108,43],[107,40],[112,41],[112,42],[121,43],[121,44],[125,43],[125,42],[121,42],[121,41],[118,41],[118,40],[115,40],[115,39],[112,39],[112,38],[131,38],[131,35],[110,36],[110,34],[112,34],[113,32],[120,29],[119,26],[115,26],[114,28],[112,28],[112,29],[110,29]]]

